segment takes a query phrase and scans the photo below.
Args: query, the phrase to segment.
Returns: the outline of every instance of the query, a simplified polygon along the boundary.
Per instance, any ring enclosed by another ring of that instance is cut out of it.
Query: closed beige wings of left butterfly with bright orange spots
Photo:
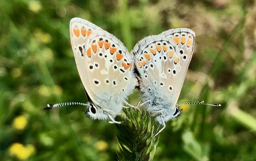
[[[81,18],[70,21],[70,37],[78,73],[91,101],[119,113],[120,97],[126,98],[134,89],[132,56],[114,35]]]

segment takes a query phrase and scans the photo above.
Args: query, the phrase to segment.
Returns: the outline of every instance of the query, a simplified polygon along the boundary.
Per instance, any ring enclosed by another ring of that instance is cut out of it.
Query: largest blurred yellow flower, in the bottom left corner
[[[36,149],[33,145],[28,144],[26,147],[21,143],[13,143],[9,148],[10,155],[17,157],[18,159],[25,160],[28,159]]]

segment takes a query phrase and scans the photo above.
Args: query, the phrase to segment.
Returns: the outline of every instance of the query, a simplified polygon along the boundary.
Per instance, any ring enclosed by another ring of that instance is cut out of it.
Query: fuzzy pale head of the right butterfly
[[[167,122],[170,119],[174,119],[180,116],[182,110],[183,109],[179,110],[178,106],[175,106],[174,109],[171,109],[171,108],[165,109],[161,112],[160,116],[156,117],[156,121],[163,125],[164,122]]]

